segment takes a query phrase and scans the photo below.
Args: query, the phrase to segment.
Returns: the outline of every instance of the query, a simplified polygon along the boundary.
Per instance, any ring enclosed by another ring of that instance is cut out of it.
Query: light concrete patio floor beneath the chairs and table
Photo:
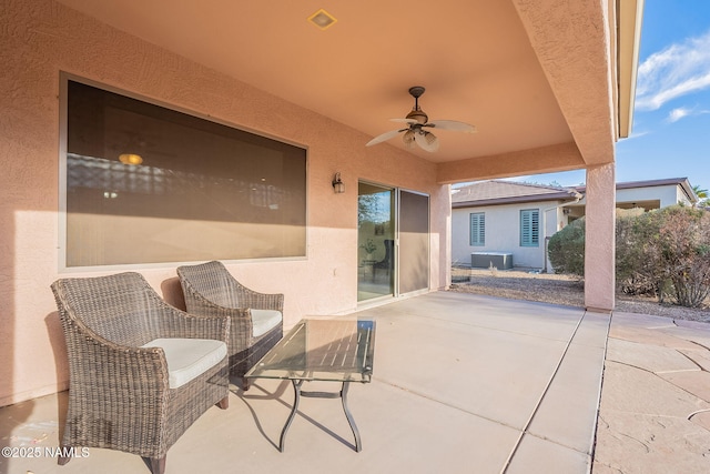
[[[349,392],[361,453],[339,401],[318,399],[301,400],[280,453],[293,390],[256,380],[187,430],[166,472],[710,472],[707,324],[448,292],[358,314],[377,321],[373,382]],[[58,446],[65,396],[0,409],[0,446]],[[0,474],[27,472],[150,470],[100,448],[61,467],[0,457]]]

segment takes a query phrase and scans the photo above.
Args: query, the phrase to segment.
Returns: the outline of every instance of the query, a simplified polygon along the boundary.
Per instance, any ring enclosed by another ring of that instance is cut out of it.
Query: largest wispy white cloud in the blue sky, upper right
[[[672,99],[708,88],[710,31],[683,43],[671,44],[639,65],[636,107],[639,110],[657,110]]]

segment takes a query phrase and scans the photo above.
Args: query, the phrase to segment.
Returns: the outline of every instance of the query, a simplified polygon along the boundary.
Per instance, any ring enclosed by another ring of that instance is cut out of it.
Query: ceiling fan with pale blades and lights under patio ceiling
[[[404,143],[412,148],[414,143],[418,144],[423,150],[435,152],[439,149],[439,140],[436,135],[425,129],[439,129],[439,130],[454,130],[458,132],[475,133],[476,128],[468,123],[458,122],[456,120],[433,120],[419,108],[419,97],[424,93],[425,89],[422,85],[415,85],[409,88],[409,94],[414,98],[414,108],[412,112],[407,114],[405,119],[389,119],[393,122],[407,123],[407,127],[399,130],[392,130],[375,137],[368,141],[365,147],[372,147],[377,143],[387,141],[397,134],[404,132],[402,140]]]

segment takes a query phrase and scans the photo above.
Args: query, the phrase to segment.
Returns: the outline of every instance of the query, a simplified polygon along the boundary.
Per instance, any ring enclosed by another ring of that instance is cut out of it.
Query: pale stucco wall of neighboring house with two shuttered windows
[[[537,201],[517,204],[458,208],[452,212],[452,262],[470,265],[474,252],[506,252],[513,254],[513,265],[545,268],[545,236],[551,236],[567,224],[567,215],[558,208],[562,201]],[[539,211],[540,235],[537,246],[520,245],[520,211]],[[485,213],[485,245],[470,244],[470,214]],[[545,215],[545,219],[542,218]],[[541,232],[545,225],[545,233]]]

